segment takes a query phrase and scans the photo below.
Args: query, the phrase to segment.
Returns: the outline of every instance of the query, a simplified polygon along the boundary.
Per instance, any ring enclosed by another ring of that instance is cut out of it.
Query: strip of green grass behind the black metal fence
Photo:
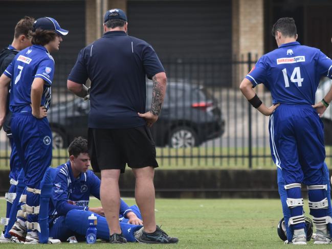
[[[271,160],[270,148],[252,149],[253,169],[275,169]],[[332,168],[332,147],[326,147],[327,166]],[[9,169],[10,151],[0,150],[0,170]],[[52,166],[67,162],[65,149],[53,150]],[[248,148],[194,147],[185,149],[157,148],[157,160],[160,168],[167,169],[248,169]]]

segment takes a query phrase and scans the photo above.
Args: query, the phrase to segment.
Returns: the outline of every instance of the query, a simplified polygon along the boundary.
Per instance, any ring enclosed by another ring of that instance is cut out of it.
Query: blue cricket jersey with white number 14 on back
[[[273,104],[313,105],[322,76],[332,78],[332,60],[294,41],[263,55],[246,78],[253,86],[263,83],[269,88]]]

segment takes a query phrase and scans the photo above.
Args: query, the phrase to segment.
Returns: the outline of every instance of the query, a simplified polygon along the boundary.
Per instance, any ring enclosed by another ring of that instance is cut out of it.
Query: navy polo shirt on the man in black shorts
[[[145,125],[146,76],[165,72],[156,52],[144,40],[123,31],[106,32],[82,49],[68,79],[91,80],[90,128],[133,128]]]

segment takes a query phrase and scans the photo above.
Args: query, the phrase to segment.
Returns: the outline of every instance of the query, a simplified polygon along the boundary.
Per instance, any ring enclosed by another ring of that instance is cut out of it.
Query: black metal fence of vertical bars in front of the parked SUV
[[[168,87],[162,114],[151,128],[161,166],[179,169],[274,167],[269,118],[252,108],[238,88],[256,60],[257,56],[252,58],[250,54],[234,57],[232,61],[162,59]],[[56,61],[52,106],[48,113],[53,131],[53,166],[68,159],[65,148],[74,137],[86,137],[87,133],[90,103],[76,98],[65,87],[72,66],[70,61]],[[151,90],[151,82],[147,82],[147,109]],[[262,85],[256,91],[266,105],[271,104],[270,92]],[[326,120],[328,123],[332,118]],[[10,146],[3,132],[0,151],[1,167],[9,167]],[[328,160],[331,152],[327,147]]]

